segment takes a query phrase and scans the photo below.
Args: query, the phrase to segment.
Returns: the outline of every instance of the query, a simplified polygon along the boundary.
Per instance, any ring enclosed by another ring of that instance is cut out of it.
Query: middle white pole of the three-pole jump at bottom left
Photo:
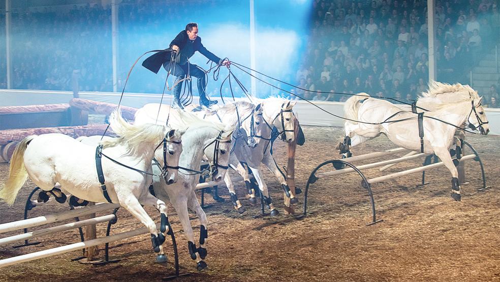
[[[45,228],[37,231],[32,231],[24,234],[19,234],[19,235],[14,235],[10,237],[5,237],[0,239],[0,246],[13,243],[13,242],[18,242],[18,241],[23,241],[27,240],[30,238],[36,238],[36,237],[41,237],[41,236],[46,236],[46,235],[51,235],[57,232],[62,232],[62,231],[67,231],[75,228],[80,228],[84,227],[86,225],[93,225],[101,222],[106,222],[115,219],[114,214],[108,214],[100,217],[95,217],[95,218],[90,218],[90,219],[85,219],[81,221],[76,221],[76,222],[71,222],[67,224],[62,224],[62,225],[57,225],[51,228]]]

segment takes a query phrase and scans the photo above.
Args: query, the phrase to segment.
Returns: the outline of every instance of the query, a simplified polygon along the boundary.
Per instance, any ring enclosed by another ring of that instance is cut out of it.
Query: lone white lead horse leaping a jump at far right
[[[346,121],[346,139],[339,145],[341,153],[348,153],[351,147],[382,133],[397,146],[435,154],[450,170],[451,196],[460,201],[458,161],[452,160],[448,150],[453,144],[457,127],[464,124],[472,129],[478,128],[481,134],[488,134],[488,120],[478,93],[470,86],[459,83],[432,82],[428,92],[422,93],[417,101],[417,106],[429,110],[424,112],[421,120],[423,138],[419,135],[417,115],[411,110],[385,100],[369,98],[366,93],[360,95],[363,96],[349,98],[344,106],[346,118],[359,122]]]

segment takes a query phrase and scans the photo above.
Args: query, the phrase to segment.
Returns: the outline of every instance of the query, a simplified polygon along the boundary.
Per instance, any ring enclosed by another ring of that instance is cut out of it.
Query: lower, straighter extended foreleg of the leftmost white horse
[[[118,189],[116,189],[115,187],[115,190]],[[149,233],[151,233],[153,250],[154,252],[158,253],[157,262],[163,262],[163,260],[166,259],[162,246],[163,242],[165,242],[165,236],[157,231],[156,224],[154,224],[154,221],[151,219],[151,217],[149,217],[149,215],[139,203],[139,200],[137,200],[134,195],[129,194],[123,196],[120,193],[117,193],[117,196],[120,205],[123,208],[127,209],[135,218],[139,219],[142,224],[146,225],[147,229],[149,229]]]

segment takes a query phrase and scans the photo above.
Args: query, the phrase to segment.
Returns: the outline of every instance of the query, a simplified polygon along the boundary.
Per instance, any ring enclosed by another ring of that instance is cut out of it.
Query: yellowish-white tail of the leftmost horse
[[[9,178],[7,178],[4,186],[0,189],[0,199],[4,200],[9,206],[14,204],[19,190],[21,190],[22,185],[24,185],[24,182],[28,178],[28,174],[24,168],[23,156],[29,142],[35,137],[37,135],[30,135],[22,139],[12,154],[9,166]]]

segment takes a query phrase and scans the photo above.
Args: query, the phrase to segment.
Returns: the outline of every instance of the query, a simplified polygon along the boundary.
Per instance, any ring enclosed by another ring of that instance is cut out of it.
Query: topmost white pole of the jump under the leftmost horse
[[[65,211],[61,213],[49,214],[45,216],[39,216],[34,218],[28,218],[24,220],[18,220],[14,222],[8,222],[0,224],[0,233],[15,231],[23,228],[35,227],[47,223],[57,222],[66,220],[69,218],[89,215],[92,213],[102,212],[110,209],[118,208],[118,204],[100,204],[92,207],[85,207],[80,209],[74,209],[70,211]]]

